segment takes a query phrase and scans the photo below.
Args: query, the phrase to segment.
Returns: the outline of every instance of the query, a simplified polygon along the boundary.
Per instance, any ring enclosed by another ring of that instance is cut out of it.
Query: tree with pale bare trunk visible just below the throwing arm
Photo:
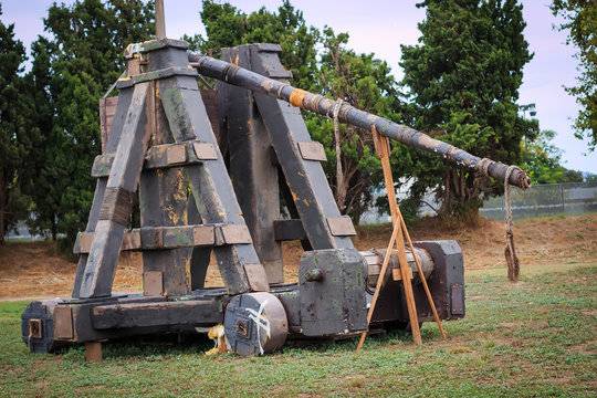
[[[314,88],[328,97],[398,121],[398,85],[388,64],[374,54],[355,53],[347,49],[347,43],[348,34],[324,29]],[[313,138],[326,148],[328,161],[324,167],[338,208],[358,222],[371,205],[371,189],[381,181],[371,132],[339,125],[336,136],[328,118],[313,114],[305,117]]]

